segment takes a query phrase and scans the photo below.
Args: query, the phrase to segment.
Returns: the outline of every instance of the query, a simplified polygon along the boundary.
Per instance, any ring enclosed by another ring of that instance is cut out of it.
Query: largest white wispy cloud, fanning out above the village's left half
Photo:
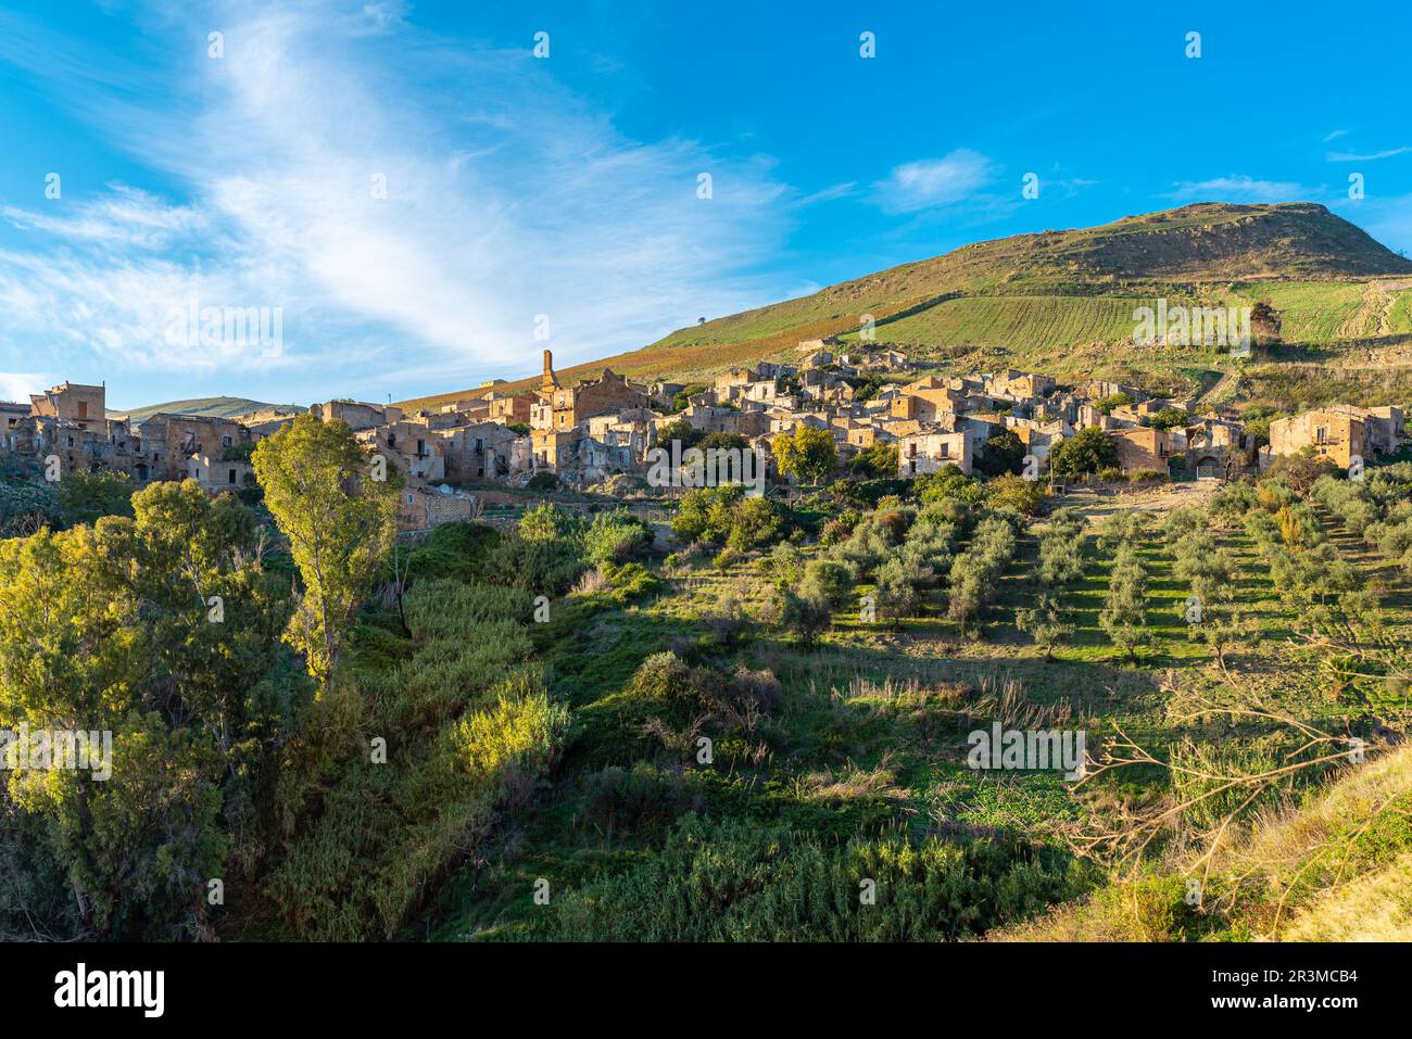
[[[446,44],[400,4],[247,10],[198,20],[202,40],[223,27],[225,58],[199,49],[171,69],[171,103],[54,83],[182,196],[112,185],[0,209],[21,232],[0,251],[14,318],[0,344],[49,336],[148,370],[264,366],[306,397],[398,391],[513,371],[544,346],[566,361],[633,349],[778,292],[754,274],[789,226],[768,161],[630,140],[552,59]],[[174,346],[169,312],[193,298],[281,306],[284,352]]]

